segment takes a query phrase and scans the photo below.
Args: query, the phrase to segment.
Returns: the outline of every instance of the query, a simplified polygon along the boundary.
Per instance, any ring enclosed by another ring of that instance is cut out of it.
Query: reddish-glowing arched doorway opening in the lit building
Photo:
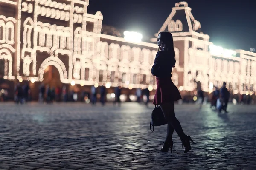
[[[50,87],[60,87],[62,86],[61,82],[61,77],[59,74],[58,69],[53,66],[49,65],[45,70],[44,70],[44,80],[43,80],[45,85],[49,85]]]

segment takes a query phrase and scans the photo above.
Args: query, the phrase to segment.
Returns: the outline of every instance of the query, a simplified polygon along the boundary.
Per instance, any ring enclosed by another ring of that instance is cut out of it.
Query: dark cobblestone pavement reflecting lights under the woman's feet
[[[218,114],[209,105],[176,105],[196,142],[189,153],[177,133],[173,153],[158,151],[166,125],[149,130],[152,108],[0,103],[0,169],[256,169],[256,106],[229,105]]]

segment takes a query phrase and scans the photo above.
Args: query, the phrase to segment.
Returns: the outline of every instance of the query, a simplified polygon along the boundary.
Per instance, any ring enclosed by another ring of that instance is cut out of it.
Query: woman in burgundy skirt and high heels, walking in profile
[[[192,143],[194,142],[190,136],[185,135],[180,122],[174,114],[174,101],[181,99],[181,96],[179,90],[171,80],[172,68],[175,67],[176,62],[172,34],[169,32],[160,32],[157,37],[157,45],[159,46],[159,51],[151,69],[151,73],[153,76],[156,76],[157,80],[157,90],[153,104],[161,106],[163,114],[168,120],[166,140],[160,151],[168,152],[169,148],[171,148],[172,152],[172,134],[175,130],[180,137],[182,146],[185,147],[184,152],[187,153],[191,150],[190,141]]]

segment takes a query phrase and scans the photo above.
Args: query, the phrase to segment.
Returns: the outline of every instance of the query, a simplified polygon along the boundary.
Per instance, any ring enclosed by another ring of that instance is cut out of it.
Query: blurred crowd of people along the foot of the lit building
[[[53,102],[86,102],[92,105],[96,105],[97,102],[105,105],[105,102],[113,102],[114,105],[120,105],[124,101],[133,101],[138,103],[143,103],[148,105],[150,99],[152,99],[152,94],[150,96],[150,91],[148,88],[141,89],[137,88],[135,94],[127,94],[127,91],[122,91],[122,87],[118,86],[107,94],[107,89],[105,86],[91,86],[87,88],[87,91],[74,91],[69,90],[65,85],[62,87],[50,87],[50,85],[45,85],[42,83],[39,86],[38,102],[40,103],[53,103]],[[133,92],[133,93],[134,93]],[[32,90],[28,83],[21,85],[17,83],[14,88],[14,102],[16,103],[26,103],[32,100]],[[0,90],[0,102],[8,100],[8,90]],[[125,96],[125,98],[124,98]],[[154,97],[154,96],[153,96]],[[250,105],[256,104],[255,94],[232,94],[226,88],[226,83],[223,83],[221,88],[214,87],[214,91],[211,94],[203,92],[201,88],[194,92],[194,95],[183,96],[183,99],[179,101],[180,103],[198,103],[200,107],[203,103],[210,102],[211,108],[218,111],[227,111],[227,105],[229,102],[233,104]]]

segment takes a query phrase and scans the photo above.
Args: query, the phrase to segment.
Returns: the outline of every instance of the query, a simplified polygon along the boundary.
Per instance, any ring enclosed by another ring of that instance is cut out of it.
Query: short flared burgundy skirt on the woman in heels
[[[162,103],[177,101],[181,99],[180,91],[173,84],[171,78],[156,78],[157,90],[154,96],[153,104],[160,105]]]

